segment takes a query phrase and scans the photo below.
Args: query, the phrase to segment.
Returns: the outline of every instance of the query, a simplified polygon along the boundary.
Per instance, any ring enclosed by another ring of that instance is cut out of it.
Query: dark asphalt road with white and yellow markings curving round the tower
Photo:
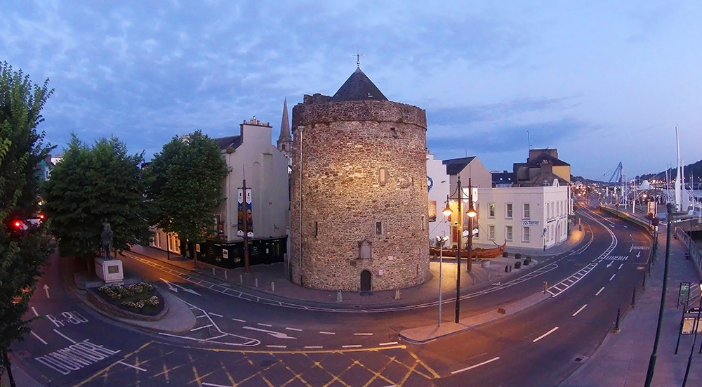
[[[436,305],[372,313],[271,305],[125,258],[127,268],[176,294],[197,317],[188,332],[146,332],[106,320],[63,291],[53,257],[39,284],[51,298],[37,291],[31,303],[32,313],[46,317],[32,323],[15,354],[48,386],[555,385],[602,342],[616,308],[630,303],[648,254],[649,242],[625,223],[592,214],[585,227],[595,235],[586,247],[477,287],[462,297],[462,316],[534,294],[543,282],[551,299],[425,346],[397,332],[435,324]],[[452,308],[444,310],[451,320]]]

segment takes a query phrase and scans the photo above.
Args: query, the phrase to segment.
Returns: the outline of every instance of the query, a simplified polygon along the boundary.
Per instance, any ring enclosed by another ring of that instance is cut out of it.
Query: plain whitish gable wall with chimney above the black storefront
[[[227,166],[224,195],[220,207],[220,221],[224,223],[227,241],[242,240],[237,236],[238,188],[246,176],[246,188],[251,188],[253,239],[285,237],[288,225],[289,189],[288,160],[271,144],[271,126],[256,117],[244,121],[241,144],[235,149],[223,150]]]

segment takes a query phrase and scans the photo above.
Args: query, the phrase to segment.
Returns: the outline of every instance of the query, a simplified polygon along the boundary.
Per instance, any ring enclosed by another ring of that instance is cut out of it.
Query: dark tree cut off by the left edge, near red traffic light
[[[51,93],[48,79],[38,86],[0,63],[0,369],[13,386],[7,353],[29,332],[22,316],[51,251],[46,223],[27,221],[39,211],[36,166],[53,149],[42,145],[44,133],[36,129]]]

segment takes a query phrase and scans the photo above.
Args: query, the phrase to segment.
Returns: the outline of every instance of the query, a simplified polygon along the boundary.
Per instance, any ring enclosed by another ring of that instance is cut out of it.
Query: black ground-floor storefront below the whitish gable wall
[[[249,264],[265,265],[283,262],[287,238],[249,240]],[[192,251],[192,247],[190,247]],[[191,255],[192,256],[192,255]],[[198,261],[225,269],[244,267],[244,241],[218,242],[207,240],[200,244]]]

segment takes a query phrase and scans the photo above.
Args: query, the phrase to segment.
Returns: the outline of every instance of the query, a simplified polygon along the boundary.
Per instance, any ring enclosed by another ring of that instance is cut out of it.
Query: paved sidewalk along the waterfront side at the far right
[[[638,216],[640,214],[634,214]],[[644,216],[645,214],[641,214]],[[644,386],[649,359],[654,347],[658,312],[661,307],[663,271],[665,267],[665,225],[658,232],[658,252],[654,259],[648,286],[640,295],[636,308],[630,310],[621,323],[619,333],[610,333],[595,353],[569,376],[560,387],[641,387]],[[680,282],[691,282],[696,288],[700,277],[694,263],[686,260],[686,247],[680,240],[671,238],[668,284],[665,292],[665,309],[661,338],[656,354],[656,367],[651,386],[682,386],[692,337],[682,336],[680,350],[675,355],[682,307],[677,306]],[[697,296],[699,290],[691,289]],[[687,386],[702,386],[702,355],[698,354],[698,338],[692,358]]]

